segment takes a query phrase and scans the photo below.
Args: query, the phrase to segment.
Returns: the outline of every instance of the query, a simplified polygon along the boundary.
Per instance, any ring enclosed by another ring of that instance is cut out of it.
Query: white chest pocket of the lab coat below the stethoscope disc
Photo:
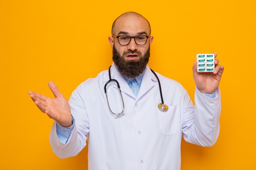
[[[164,135],[176,135],[180,130],[179,106],[169,106],[166,112],[158,110],[159,125]]]

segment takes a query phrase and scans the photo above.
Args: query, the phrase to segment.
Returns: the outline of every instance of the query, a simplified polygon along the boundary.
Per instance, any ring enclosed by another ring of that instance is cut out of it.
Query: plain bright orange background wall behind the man
[[[27,92],[52,97],[53,81],[68,99],[107,69],[112,22],[127,11],[151,24],[149,66],[183,84],[191,99],[196,53],[217,52],[225,66],[219,139],[209,148],[182,141],[182,170],[255,170],[256,0],[0,0],[0,169],[87,169],[87,148],[54,155],[53,120]]]

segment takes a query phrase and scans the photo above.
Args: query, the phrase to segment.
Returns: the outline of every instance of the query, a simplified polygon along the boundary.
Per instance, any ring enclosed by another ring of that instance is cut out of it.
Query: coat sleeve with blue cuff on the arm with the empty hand
[[[65,128],[54,121],[49,135],[52,150],[60,158],[75,156],[86,146],[89,121],[81,91],[76,89],[69,100],[73,125]]]

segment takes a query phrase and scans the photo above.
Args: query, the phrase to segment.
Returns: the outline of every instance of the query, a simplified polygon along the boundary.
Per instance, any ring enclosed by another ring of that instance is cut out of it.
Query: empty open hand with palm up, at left
[[[48,86],[54,94],[54,99],[29,91],[28,93],[31,99],[35,102],[36,106],[50,118],[54,119],[62,126],[71,126],[72,117],[67,99],[65,99],[53,82],[49,82]]]

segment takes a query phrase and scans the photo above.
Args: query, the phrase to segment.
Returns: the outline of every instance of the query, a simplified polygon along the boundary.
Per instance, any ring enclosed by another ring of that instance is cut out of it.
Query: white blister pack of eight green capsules
[[[196,54],[197,71],[213,72],[215,68],[214,54]]]

